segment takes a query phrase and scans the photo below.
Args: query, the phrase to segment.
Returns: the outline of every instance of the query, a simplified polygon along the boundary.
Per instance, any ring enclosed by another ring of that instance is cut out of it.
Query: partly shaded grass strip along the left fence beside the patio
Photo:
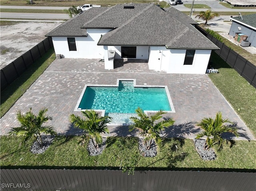
[[[55,59],[54,49],[51,48],[45,55],[38,59],[34,64],[12,82],[6,89],[1,91],[1,111],[2,117],[14,105],[26,90],[38,79],[38,77],[46,70],[46,68]]]

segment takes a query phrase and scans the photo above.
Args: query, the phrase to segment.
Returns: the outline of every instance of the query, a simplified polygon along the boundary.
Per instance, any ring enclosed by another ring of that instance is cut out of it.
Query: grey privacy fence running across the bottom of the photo
[[[1,190],[255,191],[256,173],[87,169],[1,169]]]

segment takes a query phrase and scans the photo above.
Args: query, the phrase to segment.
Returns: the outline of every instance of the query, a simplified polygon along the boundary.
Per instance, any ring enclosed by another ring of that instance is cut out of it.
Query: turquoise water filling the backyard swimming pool
[[[164,87],[134,87],[120,81],[118,87],[86,87],[79,108],[106,110],[106,113],[135,113],[135,109],[171,111]]]

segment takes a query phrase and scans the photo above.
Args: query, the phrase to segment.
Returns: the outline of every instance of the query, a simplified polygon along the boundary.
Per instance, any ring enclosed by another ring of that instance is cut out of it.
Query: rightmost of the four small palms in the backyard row
[[[215,144],[218,144],[218,150],[223,146],[225,138],[222,138],[222,133],[230,132],[236,137],[239,136],[237,128],[227,126],[225,123],[233,124],[228,119],[223,119],[221,112],[217,112],[215,119],[212,118],[203,118],[197,125],[203,129],[201,133],[196,136],[196,139],[200,139],[206,136],[205,150],[213,147]]]

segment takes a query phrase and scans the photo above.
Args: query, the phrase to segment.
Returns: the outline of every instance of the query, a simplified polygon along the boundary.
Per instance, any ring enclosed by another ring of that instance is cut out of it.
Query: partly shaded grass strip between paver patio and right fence
[[[256,89],[216,53],[211,60],[219,73],[209,74],[210,79],[256,137]]]

